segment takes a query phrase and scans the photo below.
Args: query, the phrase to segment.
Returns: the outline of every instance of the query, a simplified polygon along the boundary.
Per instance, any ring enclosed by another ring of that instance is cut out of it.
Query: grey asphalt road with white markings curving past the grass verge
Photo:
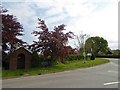
[[[90,68],[5,79],[3,88],[118,88],[118,59]]]

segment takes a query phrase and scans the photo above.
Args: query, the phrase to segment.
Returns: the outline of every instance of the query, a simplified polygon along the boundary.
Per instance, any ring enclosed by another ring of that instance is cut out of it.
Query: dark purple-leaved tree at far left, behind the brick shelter
[[[2,16],[2,48],[3,51],[12,52],[15,45],[22,45],[23,42],[18,36],[23,36],[23,27],[13,15],[7,14],[6,9],[0,10]]]

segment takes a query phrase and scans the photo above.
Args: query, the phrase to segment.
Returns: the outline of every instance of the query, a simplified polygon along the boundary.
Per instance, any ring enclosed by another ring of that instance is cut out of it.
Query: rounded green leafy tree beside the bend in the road
[[[99,52],[105,54],[108,51],[108,42],[103,37],[90,37],[85,42],[86,53],[98,55]]]

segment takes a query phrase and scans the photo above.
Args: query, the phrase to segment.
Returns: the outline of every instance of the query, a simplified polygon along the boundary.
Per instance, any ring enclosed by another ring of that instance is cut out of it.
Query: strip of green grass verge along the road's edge
[[[25,75],[41,75],[55,72],[62,72],[66,70],[74,70],[77,68],[86,68],[91,67],[103,63],[107,63],[109,60],[96,58],[95,60],[86,60],[86,63],[83,60],[74,60],[74,61],[66,61],[65,64],[57,64],[51,67],[39,67],[39,68],[31,68],[28,70],[3,70],[2,77],[4,78],[13,78]]]

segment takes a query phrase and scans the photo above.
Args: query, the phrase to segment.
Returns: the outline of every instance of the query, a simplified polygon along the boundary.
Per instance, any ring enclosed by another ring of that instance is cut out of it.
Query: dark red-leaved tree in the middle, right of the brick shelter
[[[44,20],[38,19],[39,31],[34,31],[32,34],[38,36],[38,41],[34,41],[32,49],[41,52],[44,56],[50,56],[52,59],[60,58],[61,63],[64,63],[64,57],[70,52],[70,46],[66,46],[68,39],[74,35],[72,32],[64,33],[65,25],[55,26],[49,31]]]

